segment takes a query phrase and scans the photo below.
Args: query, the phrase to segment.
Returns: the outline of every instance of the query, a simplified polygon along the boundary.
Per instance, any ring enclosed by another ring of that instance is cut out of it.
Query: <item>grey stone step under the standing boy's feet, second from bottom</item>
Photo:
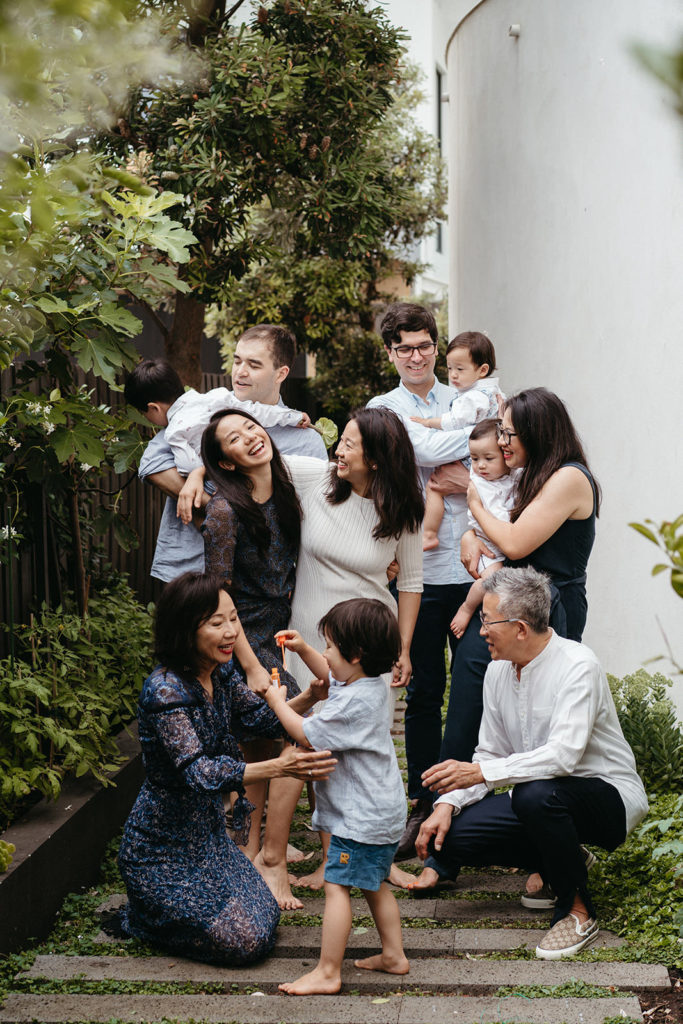
[[[181,956],[37,956],[33,966],[17,979],[48,978],[87,981],[179,981],[225,985],[257,985],[264,991],[292,981],[315,964],[316,956],[290,959],[273,956],[249,968],[214,967]],[[668,989],[667,969],[658,964],[596,963],[575,961],[480,961],[422,958],[411,962],[408,975],[361,971],[345,959],[342,981],[348,991],[393,991],[424,988],[453,992],[471,988],[499,988],[501,985],[560,985],[568,981],[623,989]]]

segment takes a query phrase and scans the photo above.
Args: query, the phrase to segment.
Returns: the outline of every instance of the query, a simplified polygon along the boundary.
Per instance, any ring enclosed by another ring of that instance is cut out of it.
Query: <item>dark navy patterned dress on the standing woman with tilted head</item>
[[[300,692],[283,669],[273,640],[289,626],[296,580],[296,546],[284,536],[272,499],[261,506],[270,530],[270,547],[262,554],[229,502],[216,495],[207,505],[202,525],[206,571],[230,586],[234,606],[249,644],[264,669],[276,668],[289,697]]]

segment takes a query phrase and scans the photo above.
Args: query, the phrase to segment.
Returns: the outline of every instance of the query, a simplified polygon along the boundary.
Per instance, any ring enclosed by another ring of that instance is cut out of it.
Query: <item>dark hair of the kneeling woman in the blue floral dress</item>
[[[223,590],[230,593],[224,580],[204,572],[183,572],[164,587],[155,617],[160,665],[181,677],[197,674],[197,631],[213,615]]]

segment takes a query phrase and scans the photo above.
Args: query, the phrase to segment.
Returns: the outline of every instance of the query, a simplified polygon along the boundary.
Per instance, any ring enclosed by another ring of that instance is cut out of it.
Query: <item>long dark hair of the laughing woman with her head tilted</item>
[[[226,461],[226,457],[216,437],[216,429],[224,416],[242,416],[245,420],[251,420],[260,426],[258,420],[250,416],[249,413],[238,412],[233,409],[223,409],[214,413],[209,420],[209,426],[202,434],[202,462],[206,466],[207,476],[216,484],[218,494],[229,502],[236,515],[256,544],[259,553],[265,555],[272,539],[263,509],[252,498],[254,484],[240,466],[236,466],[234,469],[223,469],[220,465],[221,462]],[[283,462],[283,457],[272,441],[270,444],[272,447],[270,462],[272,501],[278,521],[286,540],[294,545],[298,551],[301,540],[301,505]]]

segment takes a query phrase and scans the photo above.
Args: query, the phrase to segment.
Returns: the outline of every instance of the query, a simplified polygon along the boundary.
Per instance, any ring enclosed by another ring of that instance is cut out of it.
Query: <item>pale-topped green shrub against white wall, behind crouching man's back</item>
[[[624,679],[608,676],[622,729],[636,758],[645,788],[680,792],[683,785],[683,732],[667,695],[671,680],[639,669]]]

